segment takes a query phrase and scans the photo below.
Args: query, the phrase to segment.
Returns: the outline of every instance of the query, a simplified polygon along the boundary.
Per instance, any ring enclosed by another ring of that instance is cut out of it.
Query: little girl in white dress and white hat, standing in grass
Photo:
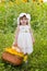
[[[30,25],[31,15],[26,13],[21,13],[17,17],[17,27],[15,32],[15,40],[13,46],[19,46],[20,51],[24,55],[30,55],[33,52],[33,32]]]

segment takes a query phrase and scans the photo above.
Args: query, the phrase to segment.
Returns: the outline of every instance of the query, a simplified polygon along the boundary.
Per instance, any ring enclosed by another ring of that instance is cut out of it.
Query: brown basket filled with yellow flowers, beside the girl
[[[12,48],[7,48],[2,54],[2,59],[14,66],[20,66],[23,62],[23,57],[24,55],[22,52],[17,52]]]

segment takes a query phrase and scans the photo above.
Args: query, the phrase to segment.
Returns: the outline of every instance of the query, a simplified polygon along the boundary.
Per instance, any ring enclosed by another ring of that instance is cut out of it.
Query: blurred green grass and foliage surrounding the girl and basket
[[[47,3],[26,2],[0,4],[0,56],[3,48],[11,47],[17,16],[21,12],[31,14],[31,26],[35,37],[34,51],[28,56],[28,64],[14,67],[0,60],[0,71],[47,71]],[[0,57],[1,59],[1,57]]]

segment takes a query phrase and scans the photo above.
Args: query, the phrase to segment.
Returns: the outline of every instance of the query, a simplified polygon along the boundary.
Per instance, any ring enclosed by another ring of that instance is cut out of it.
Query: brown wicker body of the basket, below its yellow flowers
[[[15,52],[15,55],[14,55],[14,54],[11,54],[11,52],[9,52],[9,51],[4,51],[4,52],[2,54],[2,59],[3,59],[4,61],[8,61],[8,62],[14,64],[14,66],[20,66],[20,64],[23,62],[23,57],[16,55],[16,52]]]

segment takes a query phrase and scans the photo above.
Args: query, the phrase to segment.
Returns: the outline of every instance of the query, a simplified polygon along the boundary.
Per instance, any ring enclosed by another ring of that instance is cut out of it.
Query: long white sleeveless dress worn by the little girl
[[[22,48],[24,54],[32,54],[33,52],[33,42],[32,36],[30,33],[28,25],[20,25],[20,33],[17,36],[17,46]]]

